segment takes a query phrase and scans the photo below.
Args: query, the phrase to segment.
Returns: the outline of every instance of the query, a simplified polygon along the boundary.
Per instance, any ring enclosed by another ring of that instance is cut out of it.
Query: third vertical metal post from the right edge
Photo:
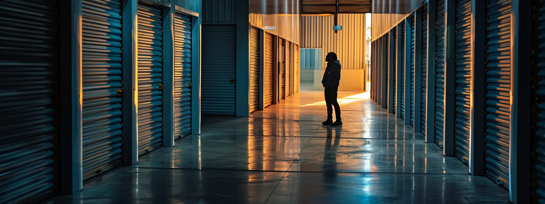
[[[456,0],[445,0],[445,100],[443,155],[454,156],[456,83]]]

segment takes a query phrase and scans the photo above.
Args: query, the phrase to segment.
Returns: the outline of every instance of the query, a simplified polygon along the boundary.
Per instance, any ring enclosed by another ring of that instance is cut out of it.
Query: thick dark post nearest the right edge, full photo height
[[[511,2],[510,201],[531,201],[532,3]]]

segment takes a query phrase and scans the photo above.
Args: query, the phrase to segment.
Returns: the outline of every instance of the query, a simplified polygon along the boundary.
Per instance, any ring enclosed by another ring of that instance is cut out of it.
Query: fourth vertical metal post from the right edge
[[[477,0],[480,1],[480,0]],[[437,27],[437,2],[428,2],[428,73],[426,76],[426,143],[435,142],[435,38]]]

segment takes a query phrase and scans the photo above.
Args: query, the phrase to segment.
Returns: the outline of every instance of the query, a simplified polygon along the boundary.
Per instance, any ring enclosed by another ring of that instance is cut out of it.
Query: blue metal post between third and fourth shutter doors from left
[[[163,7],[163,147],[174,146],[174,8]]]

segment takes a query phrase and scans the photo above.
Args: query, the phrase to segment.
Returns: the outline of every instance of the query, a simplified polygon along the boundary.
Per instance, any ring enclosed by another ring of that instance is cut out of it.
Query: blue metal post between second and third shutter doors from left
[[[123,0],[123,165],[138,162],[138,1]]]

